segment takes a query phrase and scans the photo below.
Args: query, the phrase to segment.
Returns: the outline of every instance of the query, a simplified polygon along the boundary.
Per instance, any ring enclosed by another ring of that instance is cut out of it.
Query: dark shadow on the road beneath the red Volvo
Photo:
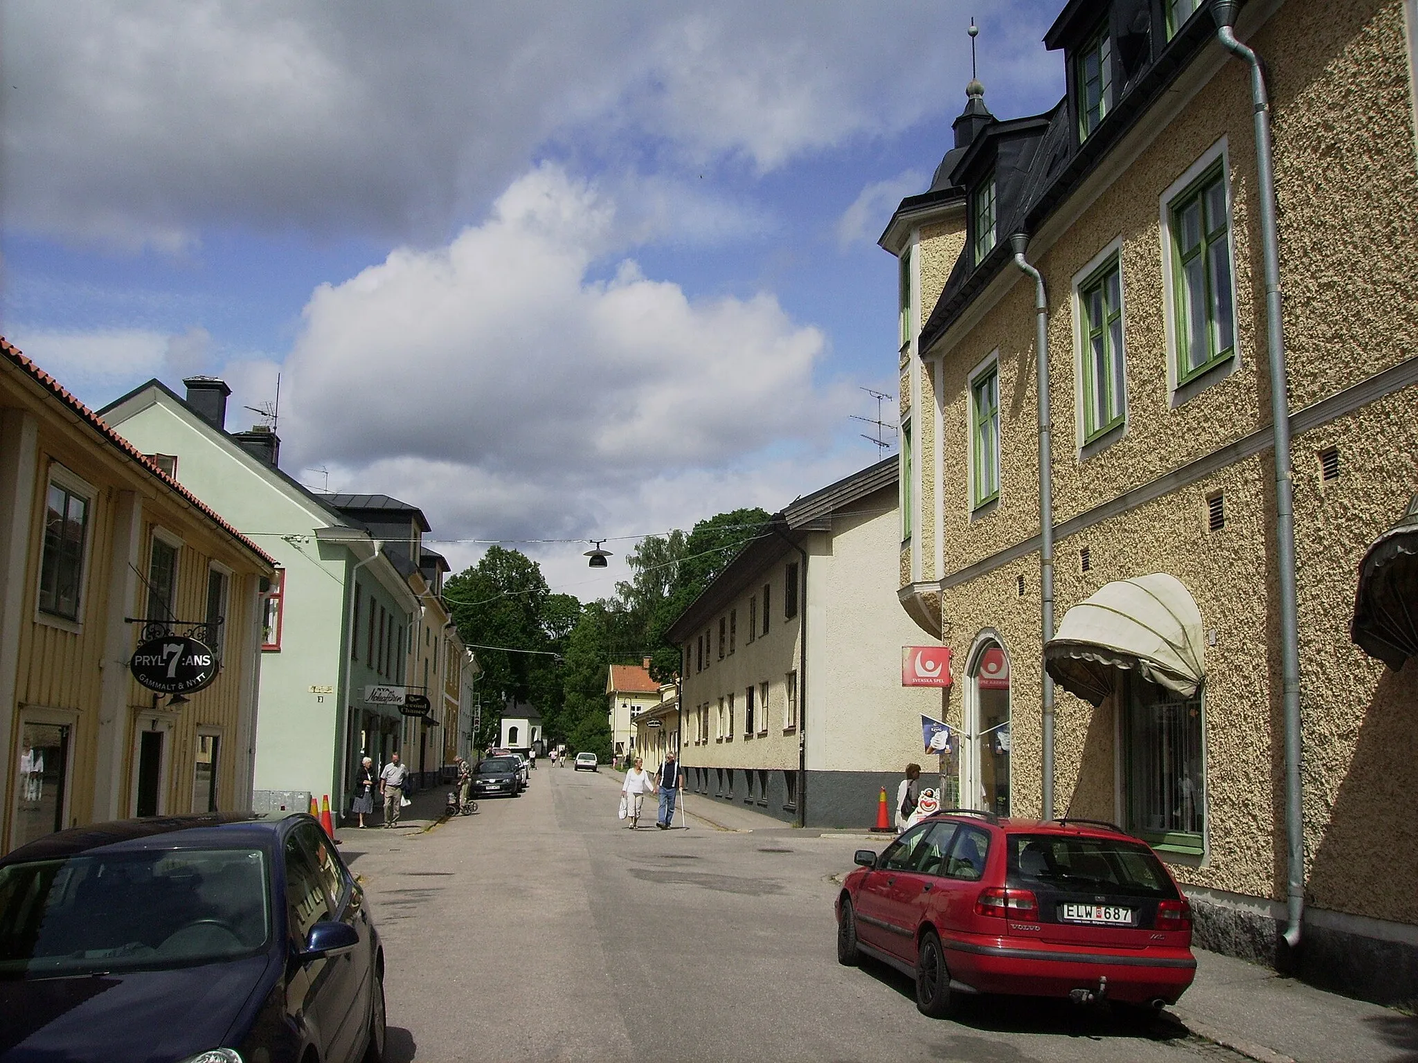
[[[916,984],[893,967],[862,958],[861,969],[916,1006]],[[1042,996],[961,998],[953,1022],[991,1033],[1039,1033],[1065,1037],[1147,1037],[1183,1040],[1191,1030],[1171,1012],[1076,1005]]]

